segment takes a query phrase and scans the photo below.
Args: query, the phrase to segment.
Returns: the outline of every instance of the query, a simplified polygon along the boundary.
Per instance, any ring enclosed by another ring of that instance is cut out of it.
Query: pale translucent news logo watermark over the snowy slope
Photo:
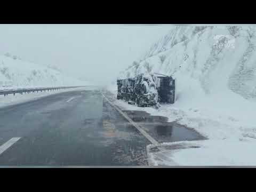
[[[213,39],[215,40],[213,46],[218,49],[235,49],[235,38],[231,35],[215,35]]]

